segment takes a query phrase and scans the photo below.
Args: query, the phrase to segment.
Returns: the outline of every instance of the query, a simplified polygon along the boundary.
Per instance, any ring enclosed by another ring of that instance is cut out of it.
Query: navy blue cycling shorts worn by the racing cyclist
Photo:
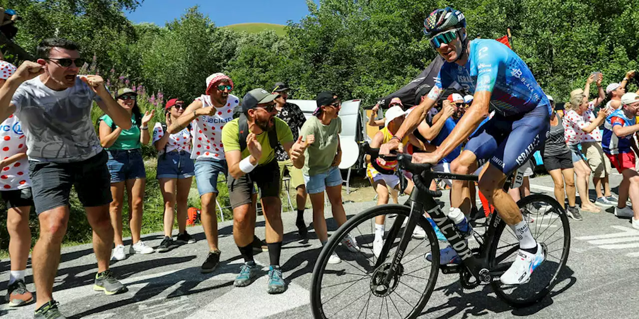
[[[524,114],[495,114],[475,131],[464,150],[473,152],[480,163],[488,159],[508,175],[543,145],[548,130],[548,105],[537,105]]]

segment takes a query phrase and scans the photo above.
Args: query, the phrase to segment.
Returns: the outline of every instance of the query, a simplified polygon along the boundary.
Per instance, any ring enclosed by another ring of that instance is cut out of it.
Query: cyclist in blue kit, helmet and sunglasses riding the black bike
[[[517,204],[502,186],[506,177],[523,165],[546,139],[550,101],[528,66],[510,48],[495,40],[468,39],[466,19],[461,11],[444,8],[431,12],[424,20],[424,33],[445,63],[435,87],[411,112],[395,137],[382,146],[381,152],[401,151],[402,138],[417,128],[440,94],[453,82],[472,93],[471,107],[437,150],[414,154],[413,161],[436,165],[470,137],[450,169],[454,173],[469,174],[477,168],[477,161],[489,159],[488,168],[479,178],[479,188],[520,241],[516,260],[500,279],[505,285],[526,283],[545,256]],[[491,105],[496,114],[479,127],[488,117]],[[453,186],[451,206],[468,214],[468,183],[462,185]]]

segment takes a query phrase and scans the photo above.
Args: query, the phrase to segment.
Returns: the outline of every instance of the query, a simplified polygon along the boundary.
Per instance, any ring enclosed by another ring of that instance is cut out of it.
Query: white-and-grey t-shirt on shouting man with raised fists
[[[29,159],[72,163],[102,152],[91,120],[93,101],[100,98],[80,78],[63,91],[49,89],[40,77],[20,84],[11,103],[22,121]]]

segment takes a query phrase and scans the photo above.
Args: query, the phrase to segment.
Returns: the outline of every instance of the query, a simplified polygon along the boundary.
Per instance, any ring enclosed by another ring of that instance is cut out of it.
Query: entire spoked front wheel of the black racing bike
[[[384,262],[375,267],[378,258],[373,253],[375,217],[397,214],[386,218],[385,244],[390,245]],[[398,271],[385,290],[377,283],[387,273],[406,228],[389,238],[394,223],[401,225],[410,215],[404,205],[380,205],[367,209],[349,219],[328,240],[315,263],[311,281],[311,309],[315,318],[417,318],[433,293],[439,270],[439,246],[430,223],[420,216],[418,225],[426,237],[411,237],[399,263]],[[359,253],[348,251],[339,243],[352,235],[360,246]],[[435,262],[424,256],[433,253]],[[328,263],[333,253],[341,258],[337,264]]]

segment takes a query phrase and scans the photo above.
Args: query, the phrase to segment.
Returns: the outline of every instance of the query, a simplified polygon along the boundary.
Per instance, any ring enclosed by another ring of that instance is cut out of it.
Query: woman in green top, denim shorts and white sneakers
[[[131,115],[132,126],[128,130],[116,125],[108,114],[102,115],[100,122],[100,144],[107,150],[109,161],[107,167],[111,174],[111,196],[113,201],[109,205],[111,224],[114,229],[115,248],[112,259],[127,258],[124,242],[122,241],[122,205],[124,191],[128,197],[128,224],[131,229],[130,254],[150,254],[153,248],[146,246],[140,238],[142,231],[142,204],[144,203],[144,188],[146,172],[142,160],[142,144],[150,140],[148,123],[155,115],[155,110],[148,111],[142,116],[137,106],[137,93],[132,89],[119,89],[115,96],[121,107]]]

